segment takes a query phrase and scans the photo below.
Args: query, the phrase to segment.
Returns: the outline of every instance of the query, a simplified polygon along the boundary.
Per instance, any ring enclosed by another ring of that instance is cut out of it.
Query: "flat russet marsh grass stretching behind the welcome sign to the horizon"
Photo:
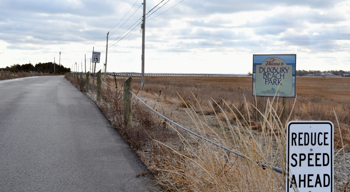
[[[297,77],[297,99],[292,110],[295,98],[287,98],[287,116],[291,120],[329,120],[336,122],[333,109],[338,117],[345,143],[350,143],[350,79],[348,77]],[[140,77],[134,77],[134,89],[140,89]],[[177,77],[177,76],[146,76],[146,92],[149,96],[172,101],[179,99],[177,93],[183,98],[180,107],[185,103],[191,105],[196,112],[200,112],[201,105],[204,114],[213,114],[211,105],[213,100],[224,110],[214,109],[221,119],[223,113],[230,114],[228,107],[234,105],[247,117],[250,114],[253,124],[260,124],[259,113],[253,106],[260,109],[260,102],[255,101],[252,95],[252,77]],[[194,100],[191,91],[198,100]],[[212,98],[212,99],[211,99]],[[228,103],[223,105],[222,99]],[[265,97],[265,103],[267,102]],[[258,98],[260,100],[260,98]],[[248,109],[244,108],[247,102]],[[281,114],[281,102],[276,103],[277,114]],[[292,111],[292,112],[291,112]],[[290,113],[291,112],[291,113]],[[235,119],[229,115],[232,122]],[[279,116],[280,117],[280,116]],[[261,124],[258,125],[261,128]],[[337,134],[338,131],[336,131]],[[339,134],[338,134],[339,135]],[[335,137],[335,144],[339,147],[339,137]],[[350,149],[347,145],[346,150]]]

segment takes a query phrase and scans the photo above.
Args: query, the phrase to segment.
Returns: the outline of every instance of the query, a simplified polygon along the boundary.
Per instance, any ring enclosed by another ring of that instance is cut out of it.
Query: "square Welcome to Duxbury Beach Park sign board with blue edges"
[[[296,55],[253,55],[253,96],[295,97]]]

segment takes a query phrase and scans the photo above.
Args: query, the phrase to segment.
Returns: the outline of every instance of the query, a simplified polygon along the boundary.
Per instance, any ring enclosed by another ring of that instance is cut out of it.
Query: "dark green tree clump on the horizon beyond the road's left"
[[[22,64],[22,65],[14,64],[10,67],[7,66],[6,68],[1,68],[1,69],[4,71],[11,71],[11,72],[36,71],[36,72],[43,72],[43,73],[50,73],[50,72],[52,73],[52,71],[54,71],[54,63],[52,63],[52,62],[37,63],[37,64],[35,64],[35,66],[33,66],[33,64],[31,64],[31,63]],[[61,64],[56,63],[55,72],[56,73],[70,73],[70,68],[65,68]]]

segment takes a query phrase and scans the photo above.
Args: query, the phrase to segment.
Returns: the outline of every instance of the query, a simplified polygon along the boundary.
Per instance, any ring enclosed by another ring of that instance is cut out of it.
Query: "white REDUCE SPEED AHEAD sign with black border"
[[[290,121],[287,125],[286,191],[333,192],[334,125],[330,121]],[[289,179],[288,179],[288,177]]]

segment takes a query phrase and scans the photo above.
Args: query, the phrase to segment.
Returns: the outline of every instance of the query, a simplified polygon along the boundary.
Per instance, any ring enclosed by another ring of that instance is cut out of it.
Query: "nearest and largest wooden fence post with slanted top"
[[[124,81],[123,103],[125,127],[132,127],[132,94],[129,90],[132,91],[132,75]]]

